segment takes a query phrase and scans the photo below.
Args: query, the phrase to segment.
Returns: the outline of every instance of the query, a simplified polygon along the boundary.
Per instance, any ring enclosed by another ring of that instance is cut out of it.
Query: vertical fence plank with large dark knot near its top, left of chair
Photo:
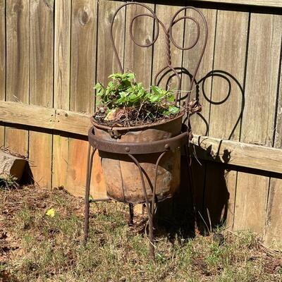
[[[94,111],[97,1],[79,0],[71,8],[71,111]],[[66,186],[83,195],[86,176],[87,141],[70,138]]]

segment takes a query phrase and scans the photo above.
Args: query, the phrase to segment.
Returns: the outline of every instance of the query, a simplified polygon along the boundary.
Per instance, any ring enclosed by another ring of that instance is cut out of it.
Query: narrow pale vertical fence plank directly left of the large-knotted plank
[[[54,108],[70,107],[71,1],[55,1]],[[68,137],[53,135],[52,187],[66,187]]]

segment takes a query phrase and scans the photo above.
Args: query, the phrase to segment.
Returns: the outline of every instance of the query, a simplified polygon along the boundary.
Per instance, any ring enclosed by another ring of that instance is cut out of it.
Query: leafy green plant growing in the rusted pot
[[[180,111],[174,104],[175,97],[171,90],[152,86],[149,92],[142,83],[135,82],[134,73],[114,73],[109,78],[111,81],[106,87],[100,82],[94,87],[101,101],[99,114],[95,115],[100,121],[119,120],[130,125],[130,121],[156,121]]]

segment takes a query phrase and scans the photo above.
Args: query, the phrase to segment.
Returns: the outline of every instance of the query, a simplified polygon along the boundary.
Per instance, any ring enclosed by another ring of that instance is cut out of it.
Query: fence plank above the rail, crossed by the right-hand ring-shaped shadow
[[[218,11],[209,120],[209,136],[212,137],[240,138],[238,118],[243,111],[248,19],[247,12]]]

